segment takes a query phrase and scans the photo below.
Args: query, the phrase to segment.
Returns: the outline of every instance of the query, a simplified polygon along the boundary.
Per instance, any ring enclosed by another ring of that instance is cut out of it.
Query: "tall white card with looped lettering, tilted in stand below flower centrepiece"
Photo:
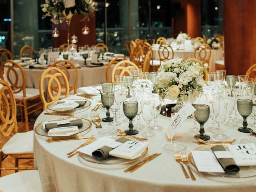
[[[178,113],[172,118],[169,128],[167,129],[170,134],[171,140],[173,139],[174,134],[178,131],[178,128],[192,114],[196,109],[190,104],[186,104],[182,107]]]

